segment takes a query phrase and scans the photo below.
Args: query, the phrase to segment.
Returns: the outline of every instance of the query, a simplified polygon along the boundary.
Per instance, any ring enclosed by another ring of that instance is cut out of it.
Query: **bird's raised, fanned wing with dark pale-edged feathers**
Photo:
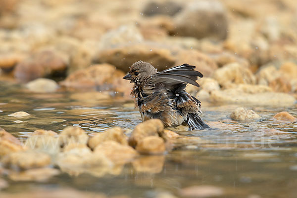
[[[180,83],[190,83],[199,86],[196,80],[198,77],[202,78],[203,75],[200,72],[195,71],[195,68],[195,66],[188,64],[169,68],[152,75],[151,81],[156,83],[162,82],[168,86],[174,86]]]

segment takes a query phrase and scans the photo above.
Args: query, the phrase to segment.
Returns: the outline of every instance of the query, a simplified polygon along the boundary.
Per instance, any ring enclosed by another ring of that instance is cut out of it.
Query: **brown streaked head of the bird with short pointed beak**
[[[152,65],[144,61],[137,61],[132,64],[130,72],[123,79],[138,83],[155,73],[157,73],[157,70]]]

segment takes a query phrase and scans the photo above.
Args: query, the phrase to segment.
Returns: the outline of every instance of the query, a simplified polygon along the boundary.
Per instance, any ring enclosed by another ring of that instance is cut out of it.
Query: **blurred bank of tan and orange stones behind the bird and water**
[[[1,81],[47,78],[60,87],[129,96],[131,85],[122,77],[138,60],[159,71],[196,65],[223,88],[229,80],[296,93],[297,3],[0,0]],[[36,83],[33,90],[58,87]]]

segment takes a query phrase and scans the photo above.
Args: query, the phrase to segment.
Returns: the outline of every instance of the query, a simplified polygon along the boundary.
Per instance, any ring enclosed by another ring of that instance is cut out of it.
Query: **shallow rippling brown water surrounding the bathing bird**
[[[80,126],[90,133],[113,126],[133,129],[141,122],[131,100],[104,93],[65,92],[35,94],[19,85],[0,84],[0,127],[24,140],[36,129],[61,131]],[[144,156],[119,167],[113,173],[69,176],[62,173],[47,182],[13,182],[4,192],[75,188],[102,192],[108,196],[155,197],[159,192],[179,196],[179,190],[194,185],[221,187],[224,198],[297,197],[297,122],[278,122],[272,117],[288,111],[297,117],[297,108],[249,107],[262,118],[237,122],[229,115],[237,105],[202,102],[203,119],[211,130],[185,131],[165,156]],[[25,111],[30,117],[8,115]],[[16,123],[14,121],[22,120]],[[273,130],[275,129],[275,130]],[[252,197],[253,196],[253,197]]]

